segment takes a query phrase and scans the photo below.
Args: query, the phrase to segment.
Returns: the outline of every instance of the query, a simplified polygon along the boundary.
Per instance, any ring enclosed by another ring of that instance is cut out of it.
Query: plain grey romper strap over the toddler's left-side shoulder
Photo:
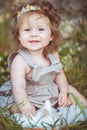
[[[37,68],[38,65],[34,63],[34,61],[32,60],[31,55],[29,55],[29,53],[25,50],[25,49],[19,49],[18,53],[23,57],[23,59],[26,61],[26,63],[33,67],[33,68]]]

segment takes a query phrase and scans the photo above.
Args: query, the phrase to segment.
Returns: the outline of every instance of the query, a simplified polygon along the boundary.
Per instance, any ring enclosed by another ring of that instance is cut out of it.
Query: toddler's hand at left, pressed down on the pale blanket
[[[36,109],[31,103],[27,103],[20,108],[22,115],[33,117],[36,114]]]

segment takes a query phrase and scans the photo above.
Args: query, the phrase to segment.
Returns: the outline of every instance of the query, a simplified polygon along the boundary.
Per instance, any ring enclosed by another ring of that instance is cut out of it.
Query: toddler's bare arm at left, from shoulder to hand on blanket
[[[27,64],[25,61],[21,56],[17,55],[11,65],[12,91],[15,103],[18,105],[19,111],[22,114],[29,116],[31,113],[35,113],[35,109],[29,102],[26,93],[26,68]],[[28,71],[30,71],[30,68]]]

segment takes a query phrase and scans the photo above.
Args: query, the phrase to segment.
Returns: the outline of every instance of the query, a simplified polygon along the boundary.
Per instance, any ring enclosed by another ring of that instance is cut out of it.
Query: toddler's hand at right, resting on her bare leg
[[[66,107],[71,105],[71,100],[69,94],[67,92],[60,92],[58,97],[58,105],[59,107]]]

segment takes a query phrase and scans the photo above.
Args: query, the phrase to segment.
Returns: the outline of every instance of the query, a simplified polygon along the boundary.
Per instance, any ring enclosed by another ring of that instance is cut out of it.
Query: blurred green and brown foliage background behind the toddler
[[[0,85],[10,79],[7,57],[17,47],[11,34],[10,16],[13,4],[19,1],[0,0]],[[49,1],[61,9],[63,40],[58,52],[68,82],[87,98],[87,0]]]

